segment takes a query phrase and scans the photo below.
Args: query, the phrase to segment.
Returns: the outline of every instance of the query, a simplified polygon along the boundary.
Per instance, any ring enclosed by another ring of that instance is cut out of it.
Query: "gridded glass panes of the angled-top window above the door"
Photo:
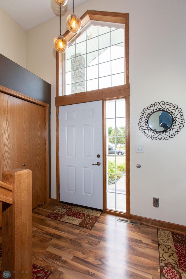
[[[125,84],[124,28],[91,25],[65,53],[63,94]]]

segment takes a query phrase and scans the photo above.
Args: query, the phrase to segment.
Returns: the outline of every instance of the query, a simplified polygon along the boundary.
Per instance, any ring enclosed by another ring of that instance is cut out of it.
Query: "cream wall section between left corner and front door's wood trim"
[[[56,51],[59,18],[27,31],[27,70],[51,84],[51,197],[56,198]]]

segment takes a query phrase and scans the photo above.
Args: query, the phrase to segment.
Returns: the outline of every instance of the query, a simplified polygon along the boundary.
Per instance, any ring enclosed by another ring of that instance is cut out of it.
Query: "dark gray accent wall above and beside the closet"
[[[49,104],[49,176],[50,164],[50,90],[51,85],[0,54],[0,85]],[[49,196],[51,198],[51,176]]]

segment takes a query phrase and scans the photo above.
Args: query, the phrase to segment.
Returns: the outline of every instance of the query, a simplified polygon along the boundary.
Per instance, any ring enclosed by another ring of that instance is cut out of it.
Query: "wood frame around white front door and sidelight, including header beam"
[[[86,103],[92,101],[99,101],[102,100],[103,102],[103,174],[106,173],[106,127],[105,127],[105,102],[108,100],[115,100],[115,99],[126,99],[126,214],[125,213],[118,213],[117,215],[126,216],[130,218],[130,109],[129,109],[129,96],[130,96],[130,84],[127,85],[119,85],[115,87],[103,88],[98,90],[92,90],[89,92],[81,92],[71,95],[65,96],[58,96],[56,97],[56,196],[57,202],[60,201],[59,195],[59,107],[62,105],[72,105],[78,103]],[[113,210],[106,210],[106,180],[105,175],[103,178],[103,211],[109,212],[110,214],[116,214]]]

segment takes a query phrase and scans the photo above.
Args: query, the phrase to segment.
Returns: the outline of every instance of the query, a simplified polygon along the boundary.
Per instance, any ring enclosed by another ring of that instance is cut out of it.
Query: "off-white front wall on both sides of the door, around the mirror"
[[[174,138],[163,141],[147,139],[138,127],[140,113],[155,101],[177,104],[186,118],[186,1],[88,0],[75,7],[80,16],[86,10],[129,13],[131,214],[186,226],[186,124]],[[62,34],[70,12],[62,17]],[[51,185],[56,198],[53,39],[59,35],[59,17],[26,35],[27,69],[51,83]],[[135,153],[136,145],[144,145],[144,153]],[[160,198],[159,208],[153,207],[153,196]]]

